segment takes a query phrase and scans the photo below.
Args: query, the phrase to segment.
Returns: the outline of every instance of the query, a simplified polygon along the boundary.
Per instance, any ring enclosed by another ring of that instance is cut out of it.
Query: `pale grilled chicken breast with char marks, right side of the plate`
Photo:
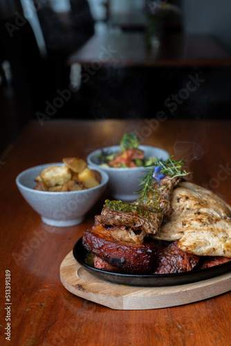
[[[178,247],[194,255],[231,257],[231,207],[205,188],[179,183],[172,212],[154,239],[179,239]]]

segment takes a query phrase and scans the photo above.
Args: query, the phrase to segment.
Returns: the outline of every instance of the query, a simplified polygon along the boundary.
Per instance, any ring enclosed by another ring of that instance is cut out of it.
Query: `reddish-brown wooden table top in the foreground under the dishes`
[[[1,345],[230,345],[231,293],[165,309],[121,311],[79,298],[59,279],[59,266],[107,195],[84,222],[47,227],[17,190],[15,178],[29,167],[86,156],[136,131],[140,142],[185,156],[190,181],[205,185],[231,203],[230,121],[100,120],[30,122],[0,159]],[[10,340],[5,340],[8,307],[5,273],[11,275]]]

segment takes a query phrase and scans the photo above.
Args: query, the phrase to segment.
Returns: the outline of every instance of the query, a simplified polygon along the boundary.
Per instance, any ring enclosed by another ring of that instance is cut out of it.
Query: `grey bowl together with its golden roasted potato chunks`
[[[28,204],[48,225],[80,224],[98,201],[109,181],[107,172],[82,158],[64,158],[21,172],[16,183]]]

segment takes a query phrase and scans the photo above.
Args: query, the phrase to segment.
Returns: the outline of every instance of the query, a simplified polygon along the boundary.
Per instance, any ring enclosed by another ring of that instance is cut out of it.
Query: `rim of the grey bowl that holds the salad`
[[[113,171],[121,171],[121,172],[131,172],[130,170],[133,170],[133,171],[135,171],[135,170],[143,170],[144,168],[149,168],[149,167],[153,167],[153,166],[140,166],[140,167],[104,167],[104,166],[100,166],[100,165],[98,165],[98,163],[93,163],[92,161],[91,161],[91,158],[93,157],[93,156],[95,156],[96,154],[98,154],[98,153],[100,153],[103,149],[120,149],[120,145],[111,145],[110,147],[103,147],[103,148],[100,148],[100,149],[96,149],[96,150],[94,150],[93,152],[91,152],[88,156],[87,156],[87,158],[86,158],[86,160],[88,161],[88,162],[90,162],[89,163],[89,165],[94,165],[94,167],[100,167],[100,170],[105,170],[105,171],[107,171],[107,170],[109,170],[109,171],[111,171],[111,172],[113,172]],[[145,150],[145,149],[158,149],[158,150],[161,150],[162,152],[164,152],[165,154],[167,154],[168,155],[168,157],[170,157],[170,154],[169,154],[169,152],[167,152],[167,150],[165,150],[165,149],[162,149],[162,148],[160,148],[160,147],[153,147],[152,145],[139,145],[138,146],[138,149],[143,149],[143,150]]]

